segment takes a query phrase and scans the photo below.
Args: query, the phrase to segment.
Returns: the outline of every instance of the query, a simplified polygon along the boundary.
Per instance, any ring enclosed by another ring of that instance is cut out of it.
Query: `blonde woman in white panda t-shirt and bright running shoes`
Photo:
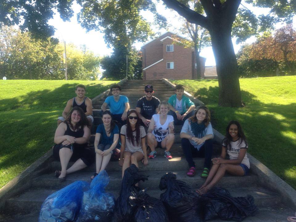
[[[158,105],[159,113],[152,116],[148,133],[147,143],[151,149],[148,158],[156,157],[156,147],[165,148],[164,157],[171,159],[170,149],[174,144],[174,117],[167,115],[169,112],[169,104],[167,101],[162,101]]]

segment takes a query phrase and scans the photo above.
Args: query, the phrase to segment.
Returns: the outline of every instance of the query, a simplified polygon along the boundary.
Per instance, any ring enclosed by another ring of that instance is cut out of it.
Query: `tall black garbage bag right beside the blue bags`
[[[137,206],[130,205],[130,195],[131,193],[138,192],[138,188],[135,187],[136,183],[140,180],[145,181],[147,179],[147,176],[139,174],[139,169],[134,164],[125,169],[119,197],[115,202],[113,222],[130,222],[133,220],[134,211]]]

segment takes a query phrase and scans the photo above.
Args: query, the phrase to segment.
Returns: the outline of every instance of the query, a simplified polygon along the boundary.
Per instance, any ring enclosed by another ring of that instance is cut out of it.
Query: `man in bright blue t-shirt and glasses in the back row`
[[[121,125],[125,125],[127,113],[130,110],[129,99],[126,96],[120,95],[121,87],[118,84],[111,85],[110,91],[113,96],[109,96],[105,99],[101,109],[104,112],[108,105],[112,114],[112,119]]]

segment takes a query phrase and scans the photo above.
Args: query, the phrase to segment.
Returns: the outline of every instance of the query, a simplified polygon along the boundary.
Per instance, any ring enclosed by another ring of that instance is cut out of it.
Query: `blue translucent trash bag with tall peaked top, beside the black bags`
[[[105,192],[109,183],[106,171],[101,171],[83,193],[82,204],[76,222],[109,222],[115,207],[114,196]]]

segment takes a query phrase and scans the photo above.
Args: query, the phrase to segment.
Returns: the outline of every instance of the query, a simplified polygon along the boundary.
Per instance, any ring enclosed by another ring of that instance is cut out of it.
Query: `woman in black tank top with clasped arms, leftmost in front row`
[[[92,164],[94,155],[87,148],[90,138],[88,120],[84,111],[76,106],[68,114],[67,119],[55,130],[55,146],[53,156],[60,160],[61,171],[55,171],[55,176],[63,182],[66,175],[81,170]],[[69,161],[75,163],[67,170]]]

